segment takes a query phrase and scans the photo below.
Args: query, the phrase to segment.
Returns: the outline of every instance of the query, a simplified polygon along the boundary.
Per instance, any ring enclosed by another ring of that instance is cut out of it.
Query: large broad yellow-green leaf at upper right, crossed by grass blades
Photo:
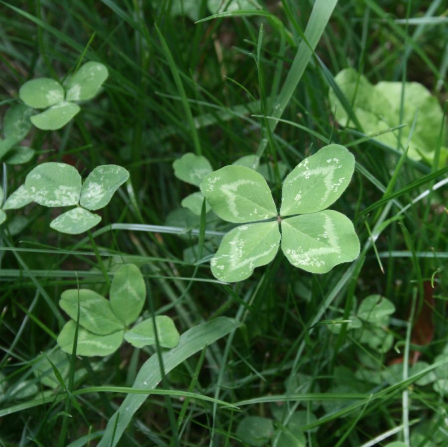
[[[351,105],[364,133],[373,134],[400,124],[403,83],[379,82],[372,85],[365,76],[352,68],[340,71],[335,81]],[[332,89],[329,92],[329,99],[337,122],[344,127],[353,126],[348,113]],[[410,137],[408,156],[415,160],[424,158],[432,162],[443,115],[439,101],[425,86],[417,82],[406,82],[401,121],[406,126],[400,130],[377,135],[374,139],[387,146],[405,148]],[[446,127],[444,132],[447,133]],[[442,162],[447,154],[448,149],[442,147]]]

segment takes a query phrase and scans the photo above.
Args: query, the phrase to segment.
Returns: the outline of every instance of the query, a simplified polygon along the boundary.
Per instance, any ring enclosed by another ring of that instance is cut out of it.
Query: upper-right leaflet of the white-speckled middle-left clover
[[[121,166],[97,166],[84,181],[80,205],[92,211],[104,208],[128,178],[129,172]]]

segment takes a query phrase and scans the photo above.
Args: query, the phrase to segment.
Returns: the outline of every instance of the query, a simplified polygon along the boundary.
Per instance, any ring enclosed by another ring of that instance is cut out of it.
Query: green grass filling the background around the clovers
[[[290,413],[301,411],[309,447],[448,446],[447,381],[429,381],[448,374],[447,168],[400,159],[400,148],[338,126],[328,100],[336,74],[354,67],[372,84],[420,82],[444,105],[444,2],[340,0],[333,13],[333,1],[313,12],[305,0],[259,3],[256,13],[196,24],[170,16],[170,0],[0,3],[2,112],[34,77],[63,81],[89,60],[110,73],[63,129],[31,131],[23,144],[38,158],[3,165],[6,196],[43,161],[73,164],[83,177],[100,164],[130,172],[92,235],[51,230],[59,211],[34,205],[8,212],[7,223],[21,219],[15,230],[0,227],[0,445],[238,446],[241,421],[259,416],[273,421],[265,445],[288,447],[301,445],[285,443]],[[257,153],[272,163],[279,203],[278,163],[289,172],[329,141],[356,158],[333,208],[353,220],[359,258],[313,275],[279,253],[241,283],[217,281],[206,247],[216,250],[230,226],[170,217],[197,191],[172,162],[202,153],[218,169]],[[185,259],[198,239],[203,255]],[[147,279],[145,317],[169,315],[183,341],[167,352],[123,344],[109,357],[73,358],[72,379],[51,391],[35,372],[67,320],[61,293],[79,285],[106,294],[122,262]],[[340,323],[373,294],[396,308],[382,330],[392,337],[386,352]],[[414,325],[421,312],[427,338]],[[395,363],[407,357],[409,366]]]

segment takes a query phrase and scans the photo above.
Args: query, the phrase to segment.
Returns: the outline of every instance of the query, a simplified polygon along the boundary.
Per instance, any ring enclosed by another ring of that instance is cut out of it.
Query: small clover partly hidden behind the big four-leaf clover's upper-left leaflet
[[[245,166],[259,172],[267,181],[271,178],[272,167],[268,163],[261,163],[260,158],[256,155],[245,155],[235,162],[234,165]],[[213,172],[212,165],[209,160],[202,155],[195,155],[193,153],[187,153],[182,155],[181,158],[173,162],[174,175],[186,183],[190,183],[194,186],[199,186],[204,177]],[[283,177],[286,173],[286,165],[282,162],[278,163],[278,169],[280,177]],[[204,201],[204,195],[201,191],[194,192],[185,197],[181,205],[184,208],[189,209],[197,216],[201,215],[202,202]],[[206,201],[206,213],[210,211],[210,205]]]

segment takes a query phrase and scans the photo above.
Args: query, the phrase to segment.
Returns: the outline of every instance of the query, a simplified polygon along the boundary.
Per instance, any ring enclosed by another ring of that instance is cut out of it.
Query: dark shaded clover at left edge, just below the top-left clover
[[[32,109],[24,104],[12,105],[3,117],[3,138],[0,138],[0,161],[6,164],[26,163],[34,155],[34,150],[17,144],[31,129]]]

